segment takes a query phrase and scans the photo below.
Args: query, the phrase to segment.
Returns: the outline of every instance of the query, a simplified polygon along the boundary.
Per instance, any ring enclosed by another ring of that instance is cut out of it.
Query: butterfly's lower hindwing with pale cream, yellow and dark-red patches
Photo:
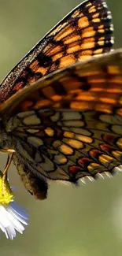
[[[17,124],[17,128],[11,126]],[[21,162],[50,180],[74,184],[113,174],[122,165],[122,117],[96,111],[37,110],[9,121]]]

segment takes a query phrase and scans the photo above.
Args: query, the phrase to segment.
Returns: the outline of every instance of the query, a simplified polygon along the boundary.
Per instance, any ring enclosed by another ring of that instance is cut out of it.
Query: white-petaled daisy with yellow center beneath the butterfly
[[[28,224],[28,214],[13,202],[13,191],[8,180],[3,180],[2,177],[0,172],[0,228],[7,239],[13,240],[17,232],[24,232],[24,225]]]

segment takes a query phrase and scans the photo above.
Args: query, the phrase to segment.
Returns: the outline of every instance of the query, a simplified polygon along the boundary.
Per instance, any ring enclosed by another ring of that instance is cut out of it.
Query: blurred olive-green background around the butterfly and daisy
[[[0,80],[79,0],[0,0]],[[115,47],[122,46],[122,1],[108,0]],[[0,154],[0,169],[6,155]],[[120,256],[122,254],[122,174],[74,188],[52,184],[39,202],[25,191],[12,165],[9,179],[17,202],[29,210],[24,235],[13,241],[0,232],[2,256]]]

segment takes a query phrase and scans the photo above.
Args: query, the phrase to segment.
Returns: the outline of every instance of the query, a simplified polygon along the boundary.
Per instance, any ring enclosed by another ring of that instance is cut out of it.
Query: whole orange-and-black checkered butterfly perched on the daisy
[[[122,50],[102,0],[72,10],[0,86],[0,150],[24,186],[47,196],[51,180],[78,184],[122,165]]]

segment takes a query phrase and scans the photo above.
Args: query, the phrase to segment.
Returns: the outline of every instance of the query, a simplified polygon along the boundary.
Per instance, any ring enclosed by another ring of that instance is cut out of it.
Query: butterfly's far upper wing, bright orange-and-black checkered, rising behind
[[[113,46],[111,13],[103,0],[87,0],[57,24],[9,72],[0,101],[50,72],[98,56]]]

